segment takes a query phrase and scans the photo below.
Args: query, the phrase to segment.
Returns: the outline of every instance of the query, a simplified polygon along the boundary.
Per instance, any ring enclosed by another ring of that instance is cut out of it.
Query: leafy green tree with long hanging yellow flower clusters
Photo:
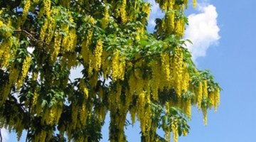
[[[111,142],[127,141],[135,121],[141,141],[177,142],[191,106],[206,124],[220,87],[186,48],[188,0],[156,3],[165,16],[149,33],[143,0],[0,1],[1,128],[26,141],[100,141],[109,112]]]

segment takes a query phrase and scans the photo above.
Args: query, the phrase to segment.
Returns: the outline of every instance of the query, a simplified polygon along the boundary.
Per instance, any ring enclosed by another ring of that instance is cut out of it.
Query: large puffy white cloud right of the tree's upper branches
[[[220,28],[217,25],[218,13],[215,6],[198,4],[200,13],[193,13],[188,16],[188,24],[185,31],[185,38],[192,41],[193,45],[187,43],[188,50],[192,53],[193,60],[206,56],[206,50],[210,45],[217,45],[220,35]]]

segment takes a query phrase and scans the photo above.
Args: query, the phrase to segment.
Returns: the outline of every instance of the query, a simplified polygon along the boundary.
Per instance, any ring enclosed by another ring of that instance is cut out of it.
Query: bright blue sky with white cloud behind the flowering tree
[[[154,18],[163,16],[154,0],[149,18],[149,31]],[[208,125],[196,108],[189,121],[191,131],[180,142],[255,142],[256,141],[256,1],[191,0],[186,14],[189,26],[185,38],[192,40],[188,49],[199,69],[209,69],[220,83],[220,107],[208,111]],[[108,124],[109,119],[106,119]],[[139,124],[128,127],[128,141],[139,142]],[[108,125],[102,129],[102,142],[108,139]],[[160,132],[161,133],[161,132]],[[2,131],[4,142],[16,141],[14,133]],[[21,138],[24,141],[24,138]]]

